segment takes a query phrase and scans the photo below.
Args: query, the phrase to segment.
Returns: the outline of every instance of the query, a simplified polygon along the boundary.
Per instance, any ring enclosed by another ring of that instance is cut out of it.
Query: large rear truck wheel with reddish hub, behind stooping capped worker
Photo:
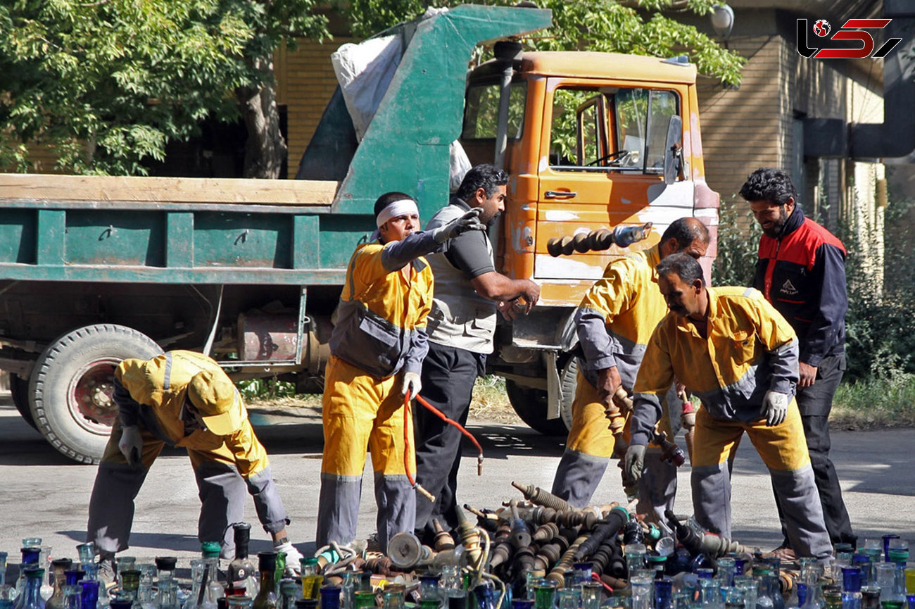
[[[159,353],[162,348],[145,334],[112,323],[59,337],[41,353],[29,382],[38,431],[73,461],[99,462],[117,416],[114,366]]]

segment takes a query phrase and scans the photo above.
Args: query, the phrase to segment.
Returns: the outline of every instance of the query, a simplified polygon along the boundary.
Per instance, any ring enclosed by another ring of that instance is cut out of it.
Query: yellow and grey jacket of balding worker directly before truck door
[[[617,366],[631,390],[651,332],[667,313],[658,288],[657,247],[611,262],[576,310],[583,374],[594,385],[597,370]]]

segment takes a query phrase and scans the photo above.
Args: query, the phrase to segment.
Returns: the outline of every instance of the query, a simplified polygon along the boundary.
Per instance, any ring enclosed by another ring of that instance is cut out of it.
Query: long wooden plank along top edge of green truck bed
[[[339,182],[318,179],[134,178],[2,173],[0,199],[328,206]]]

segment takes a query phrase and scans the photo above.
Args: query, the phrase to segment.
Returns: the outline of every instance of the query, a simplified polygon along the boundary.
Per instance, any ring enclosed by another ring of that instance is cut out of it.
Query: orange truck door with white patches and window
[[[673,220],[692,215],[691,183],[663,183],[668,124],[682,113],[685,94],[685,87],[657,83],[548,80],[534,256],[542,300],[577,304],[611,256],[623,252],[613,246],[554,258],[546,250],[550,238],[652,222],[657,234],[634,246],[650,247]]]

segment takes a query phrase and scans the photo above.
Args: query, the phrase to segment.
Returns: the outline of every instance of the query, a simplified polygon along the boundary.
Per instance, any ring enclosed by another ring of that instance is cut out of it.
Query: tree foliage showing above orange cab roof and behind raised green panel
[[[451,6],[463,0],[338,0],[339,10],[357,36],[392,27],[419,16],[428,5]],[[497,0],[479,4],[514,5],[516,0]],[[711,13],[720,0],[544,0],[536,3],[553,11],[553,27],[527,42],[537,50],[597,50],[671,57],[686,54],[702,74],[722,82],[740,82],[740,69],[746,60],[722,48],[693,26],[676,21],[661,11],[688,11],[695,15]]]

